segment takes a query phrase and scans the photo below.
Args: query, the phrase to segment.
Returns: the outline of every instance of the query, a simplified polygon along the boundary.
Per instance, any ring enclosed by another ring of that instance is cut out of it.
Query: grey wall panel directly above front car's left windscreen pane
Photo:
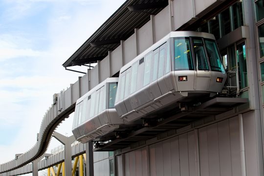
[[[193,9],[193,0],[173,1],[174,29],[179,28],[194,17]]]

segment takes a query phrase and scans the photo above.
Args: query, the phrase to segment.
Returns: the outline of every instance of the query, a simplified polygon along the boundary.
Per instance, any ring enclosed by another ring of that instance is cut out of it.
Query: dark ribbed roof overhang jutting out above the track
[[[102,60],[108,51],[128,39],[135,28],[142,27],[168,5],[168,0],[127,0],[97,31],[63,64],[64,67]],[[132,6],[132,11],[128,6]],[[93,44],[93,46],[91,46]],[[103,46],[103,47],[100,47]]]

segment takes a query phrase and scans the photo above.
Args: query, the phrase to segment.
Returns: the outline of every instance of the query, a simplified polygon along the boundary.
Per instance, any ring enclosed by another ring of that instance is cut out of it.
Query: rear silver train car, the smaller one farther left
[[[114,109],[117,82],[118,78],[107,78],[77,100],[72,126],[76,140],[103,140],[110,132],[129,125]]]

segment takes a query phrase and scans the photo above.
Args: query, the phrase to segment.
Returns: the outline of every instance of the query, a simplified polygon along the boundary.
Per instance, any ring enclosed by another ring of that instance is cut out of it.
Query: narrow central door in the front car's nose
[[[205,47],[203,40],[201,38],[192,38],[193,43],[193,54],[195,60],[196,67],[196,81],[194,84],[195,90],[206,90],[209,89],[210,79],[211,79],[211,71],[209,71],[209,64],[207,60],[207,55],[205,53]]]

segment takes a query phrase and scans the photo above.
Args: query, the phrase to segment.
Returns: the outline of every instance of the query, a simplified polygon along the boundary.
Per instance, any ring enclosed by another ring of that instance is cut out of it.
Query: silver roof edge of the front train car
[[[148,49],[146,49],[145,51],[143,51],[141,54],[139,54],[138,56],[136,56],[128,64],[126,64],[125,66],[123,66],[120,69],[120,73],[122,73],[123,71],[125,71],[126,69],[128,69],[138,59],[141,59],[146,54],[148,54],[150,51],[152,51],[152,50],[156,49],[157,47],[159,47],[160,45],[164,44],[169,38],[172,38],[172,37],[203,37],[203,38],[206,38],[206,39],[213,39],[213,40],[215,40],[215,36],[213,34],[206,33],[206,32],[172,31],[168,35],[166,35],[165,37],[163,37],[162,39],[160,39],[158,42],[156,42],[155,44],[153,44],[152,46],[150,46]]]

